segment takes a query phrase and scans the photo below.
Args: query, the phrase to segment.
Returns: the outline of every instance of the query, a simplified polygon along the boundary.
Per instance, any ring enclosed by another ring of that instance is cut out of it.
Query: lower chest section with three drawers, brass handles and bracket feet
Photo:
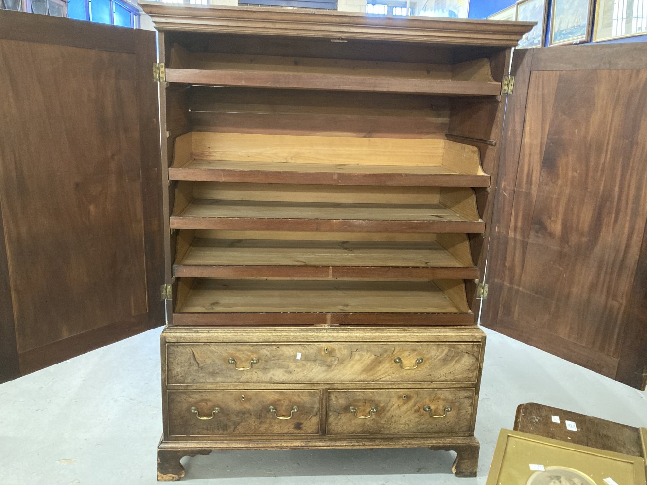
[[[474,475],[484,351],[474,325],[167,327],[159,479],[245,447],[452,449]]]

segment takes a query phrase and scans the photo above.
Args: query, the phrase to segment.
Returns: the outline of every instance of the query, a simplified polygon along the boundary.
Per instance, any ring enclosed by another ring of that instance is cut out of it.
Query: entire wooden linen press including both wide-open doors
[[[159,83],[151,32],[0,11],[0,378],[166,305],[164,480],[281,447],[474,475],[479,314],[644,386],[645,45],[516,51],[510,94],[524,23],[142,5]]]

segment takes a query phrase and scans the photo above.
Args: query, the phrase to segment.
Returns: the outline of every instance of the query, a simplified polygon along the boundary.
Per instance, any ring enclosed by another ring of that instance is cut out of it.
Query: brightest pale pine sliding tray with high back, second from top
[[[448,140],[193,132],[175,141],[170,180],[488,187],[476,147]]]

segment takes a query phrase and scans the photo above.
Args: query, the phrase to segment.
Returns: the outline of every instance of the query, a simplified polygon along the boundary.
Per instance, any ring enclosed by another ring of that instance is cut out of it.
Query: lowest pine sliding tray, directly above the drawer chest
[[[182,280],[175,325],[473,324],[462,281]]]

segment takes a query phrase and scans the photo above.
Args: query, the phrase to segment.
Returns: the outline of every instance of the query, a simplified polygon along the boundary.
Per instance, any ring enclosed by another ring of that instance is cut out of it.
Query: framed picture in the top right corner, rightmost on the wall
[[[647,0],[598,0],[593,41],[647,34]]]

